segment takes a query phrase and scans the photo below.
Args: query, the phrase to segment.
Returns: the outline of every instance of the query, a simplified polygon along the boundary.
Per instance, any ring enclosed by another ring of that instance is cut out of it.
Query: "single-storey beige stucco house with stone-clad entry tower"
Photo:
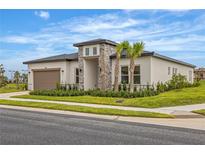
[[[111,89],[114,84],[117,43],[96,39],[74,44],[77,53],[57,55],[28,64],[28,88],[53,89],[56,83],[78,84],[81,89]],[[129,58],[122,53],[119,83],[129,83]],[[186,75],[193,82],[194,65],[155,52],[144,51],[135,61],[134,83],[147,85],[170,80],[173,74]]]

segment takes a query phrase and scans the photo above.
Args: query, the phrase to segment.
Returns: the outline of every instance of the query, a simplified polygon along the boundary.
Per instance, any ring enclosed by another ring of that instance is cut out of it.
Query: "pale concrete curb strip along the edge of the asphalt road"
[[[81,113],[73,111],[62,111],[62,110],[51,110],[51,109],[40,109],[31,107],[20,107],[20,106],[10,106],[10,105],[0,105],[0,108],[5,109],[16,109],[24,111],[34,111],[34,112],[44,112],[44,113],[54,113],[63,115],[73,115],[90,117],[97,119],[113,120],[118,122],[132,122],[132,123],[143,123],[151,125],[161,125],[179,128],[189,128],[196,130],[205,130],[205,118],[185,118],[185,119],[167,119],[167,118],[143,118],[143,117],[123,117],[123,116],[111,116],[111,115],[98,115],[91,113]]]

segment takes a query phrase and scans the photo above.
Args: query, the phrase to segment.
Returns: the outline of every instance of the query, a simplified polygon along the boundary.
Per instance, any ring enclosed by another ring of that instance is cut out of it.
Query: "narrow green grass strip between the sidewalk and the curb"
[[[65,104],[54,104],[54,103],[44,103],[44,102],[26,102],[26,101],[23,102],[23,101],[0,100],[0,105],[24,106],[24,107],[85,112],[85,113],[94,113],[94,114],[103,114],[103,115],[149,117],[149,118],[174,118],[173,115],[156,113],[156,112],[94,108],[94,107],[85,107],[79,105],[65,105]]]

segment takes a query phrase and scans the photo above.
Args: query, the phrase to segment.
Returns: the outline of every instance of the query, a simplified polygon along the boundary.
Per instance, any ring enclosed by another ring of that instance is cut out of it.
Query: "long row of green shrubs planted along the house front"
[[[136,98],[136,97],[148,97],[155,96],[162,92],[181,89],[185,87],[196,87],[199,86],[199,81],[195,81],[193,84],[189,83],[185,76],[183,75],[173,75],[172,79],[166,83],[158,82],[156,86],[146,86],[144,89],[140,88],[133,93],[129,92],[129,87],[126,84],[119,85],[119,91],[114,90],[101,91],[100,89],[92,90],[78,90],[77,85],[65,84],[56,85],[56,90],[35,90],[31,91],[31,95],[45,95],[45,96],[98,96],[98,97],[122,97],[122,98]]]

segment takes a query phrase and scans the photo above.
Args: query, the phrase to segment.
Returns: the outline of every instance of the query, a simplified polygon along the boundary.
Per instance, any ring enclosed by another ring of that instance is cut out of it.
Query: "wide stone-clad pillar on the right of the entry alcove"
[[[111,76],[111,48],[113,46],[109,44],[100,45],[100,55],[99,55],[99,78],[98,78],[98,88],[101,90],[108,90],[112,88],[112,76]]]

